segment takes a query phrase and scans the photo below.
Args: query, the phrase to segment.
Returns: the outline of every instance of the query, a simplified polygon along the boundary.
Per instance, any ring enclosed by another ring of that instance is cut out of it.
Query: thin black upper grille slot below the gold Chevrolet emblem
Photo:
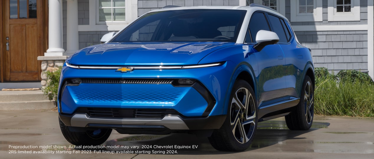
[[[173,79],[102,79],[85,78],[82,83],[103,83],[103,84],[171,84]]]

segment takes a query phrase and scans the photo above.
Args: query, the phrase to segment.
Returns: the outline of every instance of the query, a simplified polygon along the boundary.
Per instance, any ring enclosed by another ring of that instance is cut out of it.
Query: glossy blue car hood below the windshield
[[[106,43],[77,51],[66,62],[71,65],[194,65],[229,42]]]

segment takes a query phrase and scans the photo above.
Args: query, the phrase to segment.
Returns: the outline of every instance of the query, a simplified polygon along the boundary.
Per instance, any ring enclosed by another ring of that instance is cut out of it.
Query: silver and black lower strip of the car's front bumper
[[[71,127],[114,128],[114,129],[164,129],[164,130],[209,130],[219,129],[226,115],[203,118],[182,118],[178,115],[164,116],[162,119],[95,118],[87,114],[61,115],[65,125]]]

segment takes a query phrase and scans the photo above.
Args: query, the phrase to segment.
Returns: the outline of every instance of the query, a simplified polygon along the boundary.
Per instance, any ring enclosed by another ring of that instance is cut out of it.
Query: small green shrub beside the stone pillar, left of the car
[[[47,85],[43,89],[43,93],[49,97],[50,100],[57,101],[58,83],[61,75],[61,67],[53,70],[43,72],[47,76]]]

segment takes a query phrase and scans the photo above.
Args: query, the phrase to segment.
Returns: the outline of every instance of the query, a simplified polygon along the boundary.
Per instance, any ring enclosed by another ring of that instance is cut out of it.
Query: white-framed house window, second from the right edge
[[[321,22],[322,0],[291,0],[291,22]]]

